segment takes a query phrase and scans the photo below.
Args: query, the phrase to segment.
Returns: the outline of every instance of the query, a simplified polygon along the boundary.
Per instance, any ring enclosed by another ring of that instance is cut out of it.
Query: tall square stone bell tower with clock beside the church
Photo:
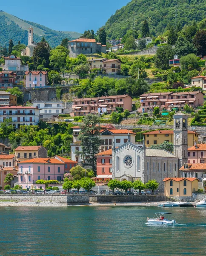
[[[174,116],[174,155],[179,157],[178,170],[184,163],[187,163],[188,134],[187,119],[184,113],[176,113]]]

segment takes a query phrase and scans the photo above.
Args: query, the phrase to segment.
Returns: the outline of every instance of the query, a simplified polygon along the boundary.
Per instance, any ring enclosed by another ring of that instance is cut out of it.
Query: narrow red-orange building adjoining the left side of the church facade
[[[96,154],[97,180],[106,181],[112,179],[112,149]]]

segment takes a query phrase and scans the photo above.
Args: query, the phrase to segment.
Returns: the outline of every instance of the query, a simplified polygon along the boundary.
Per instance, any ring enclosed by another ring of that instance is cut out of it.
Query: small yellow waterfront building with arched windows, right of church
[[[166,196],[192,196],[198,190],[197,178],[164,178]]]

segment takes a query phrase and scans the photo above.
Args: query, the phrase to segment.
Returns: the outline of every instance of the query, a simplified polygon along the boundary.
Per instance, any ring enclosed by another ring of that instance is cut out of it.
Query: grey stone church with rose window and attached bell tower
[[[163,179],[181,177],[180,167],[187,163],[187,118],[184,113],[174,116],[174,154],[160,149],[146,148],[128,140],[116,148],[112,145],[112,179],[116,180],[148,180],[155,179],[160,183],[159,192],[164,191]]]

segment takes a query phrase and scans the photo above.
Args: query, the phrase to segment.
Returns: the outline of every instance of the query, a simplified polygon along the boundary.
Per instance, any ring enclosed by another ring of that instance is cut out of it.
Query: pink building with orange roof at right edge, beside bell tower
[[[188,163],[206,163],[206,144],[188,148]]]

